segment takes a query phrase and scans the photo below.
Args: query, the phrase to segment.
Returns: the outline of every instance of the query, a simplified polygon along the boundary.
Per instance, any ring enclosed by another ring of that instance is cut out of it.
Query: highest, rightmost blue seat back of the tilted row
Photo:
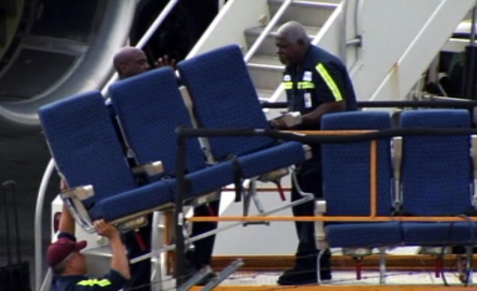
[[[237,45],[225,46],[177,65],[204,128],[268,128]],[[217,159],[242,155],[274,143],[269,137],[210,138]]]

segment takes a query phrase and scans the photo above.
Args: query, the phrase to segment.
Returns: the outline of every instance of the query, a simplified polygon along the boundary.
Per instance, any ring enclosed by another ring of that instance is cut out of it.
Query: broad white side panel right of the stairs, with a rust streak
[[[353,76],[358,99],[402,99],[474,3],[363,0],[362,64]]]

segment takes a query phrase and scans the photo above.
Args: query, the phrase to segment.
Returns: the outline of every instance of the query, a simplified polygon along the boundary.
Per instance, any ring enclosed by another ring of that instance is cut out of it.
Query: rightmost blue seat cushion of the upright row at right
[[[405,222],[402,224],[406,245],[475,244],[475,222]]]

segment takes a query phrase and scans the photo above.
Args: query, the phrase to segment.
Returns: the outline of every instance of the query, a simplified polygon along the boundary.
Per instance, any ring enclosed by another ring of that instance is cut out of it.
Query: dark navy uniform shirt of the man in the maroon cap
[[[75,236],[61,232],[58,238],[67,237],[76,241]],[[101,278],[89,278],[84,275],[53,275],[51,281],[52,291],[118,291],[128,280],[120,273],[111,269]]]

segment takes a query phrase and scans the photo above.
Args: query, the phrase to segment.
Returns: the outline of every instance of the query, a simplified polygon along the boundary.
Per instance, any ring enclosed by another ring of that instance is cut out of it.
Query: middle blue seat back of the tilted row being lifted
[[[166,67],[142,73],[112,84],[111,101],[129,146],[140,164],[160,160],[164,175],[176,173],[179,126],[191,128],[174,72]],[[187,139],[186,170],[205,166],[197,139]]]

